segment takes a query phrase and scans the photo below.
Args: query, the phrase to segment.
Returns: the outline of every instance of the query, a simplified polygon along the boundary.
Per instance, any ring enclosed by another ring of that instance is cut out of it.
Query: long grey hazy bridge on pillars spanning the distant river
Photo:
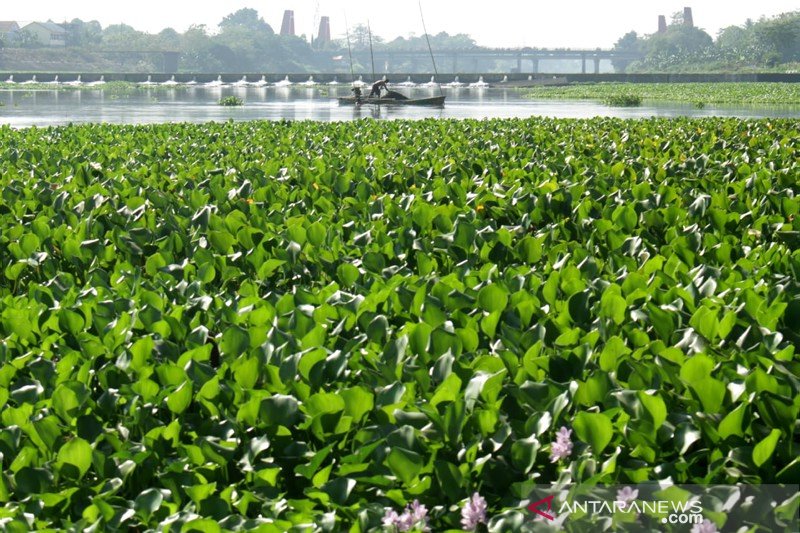
[[[383,63],[385,70],[391,72],[392,64],[403,59],[425,59],[430,58],[428,50],[391,50],[376,49],[375,61]],[[363,52],[361,53],[363,55]],[[548,48],[463,48],[450,50],[436,50],[434,57],[438,64],[449,65],[452,72],[459,71],[459,63],[472,60],[477,62],[479,59],[490,60],[510,60],[517,62],[517,72],[525,72],[523,64],[530,61],[531,74],[539,73],[539,62],[543,60],[579,60],[581,61],[581,73],[587,74],[587,64],[594,63],[594,73],[600,73],[600,61],[620,60],[636,61],[642,59],[639,54],[619,52],[616,50],[603,50],[596,48],[588,49],[548,49]]]

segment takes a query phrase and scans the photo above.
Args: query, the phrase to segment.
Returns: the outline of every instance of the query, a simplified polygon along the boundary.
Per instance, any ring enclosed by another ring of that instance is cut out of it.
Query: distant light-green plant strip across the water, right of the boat
[[[639,98],[693,104],[800,105],[800,83],[595,83],[524,91],[533,99]]]

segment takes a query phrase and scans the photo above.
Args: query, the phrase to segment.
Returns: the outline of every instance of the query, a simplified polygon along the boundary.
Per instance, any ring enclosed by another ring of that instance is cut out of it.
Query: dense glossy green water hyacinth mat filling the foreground
[[[796,482],[799,135],[0,128],[0,520],[520,531],[555,481]]]

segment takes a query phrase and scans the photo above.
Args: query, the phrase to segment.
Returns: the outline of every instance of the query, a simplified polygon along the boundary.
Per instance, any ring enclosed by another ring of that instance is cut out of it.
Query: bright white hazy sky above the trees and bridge
[[[345,15],[352,27],[370,21],[374,34],[385,38],[421,35],[416,0],[3,0],[3,20],[47,20],[80,18],[98,20],[103,27],[125,22],[136,29],[157,33],[165,27],[184,31],[191,24],[210,29],[237,9],[250,7],[278,31],[283,11],[294,9],[298,34],[316,33],[319,15],[331,17],[334,38],[344,35]],[[658,15],[667,19],[692,6],[695,24],[712,36],[725,26],[742,24],[747,18],[772,16],[800,9],[797,0],[423,0],[425,22],[430,33],[468,33],[485,46],[603,47],[623,34],[636,30],[653,33]],[[387,6],[392,6],[388,8]]]

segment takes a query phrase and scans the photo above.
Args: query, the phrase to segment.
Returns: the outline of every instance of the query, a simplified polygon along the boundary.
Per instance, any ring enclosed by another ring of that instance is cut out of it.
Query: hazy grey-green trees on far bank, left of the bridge
[[[71,51],[174,51],[180,53],[182,72],[349,72],[347,39],[327,43],[309,42],[304,36],[277,34],[255,9],[240,9],[224,17],[217,28],[192,25],[180,33],[166,28],[151,34],[127,24],[112,24],[105,28],[96,20],[73,19],[59,24],[66,31],[66,45]],[[440,33],[431,36],[441,48],[474,48],[475,41],[467,35]],[[376,49],[419,49],[426,46],[423,36],[398,37],[386,41],[372,36]],[[7,48],[44,48],[34,35],[19,31],[13,39],[0,43]],[[369,31],[365,25],[350,29],[350,47],[354,52],[355,68],[368,70]],[[49,48],[49,47],[47,47]],[[132,57],[135,54],[132,54]],[[137,57],[137,61],[147,59]],[[430,70],[429,60],[417,65],[407,60],[395,65],[399,69]],[[137,70],[157,70],[157,65],[139,65]]]

